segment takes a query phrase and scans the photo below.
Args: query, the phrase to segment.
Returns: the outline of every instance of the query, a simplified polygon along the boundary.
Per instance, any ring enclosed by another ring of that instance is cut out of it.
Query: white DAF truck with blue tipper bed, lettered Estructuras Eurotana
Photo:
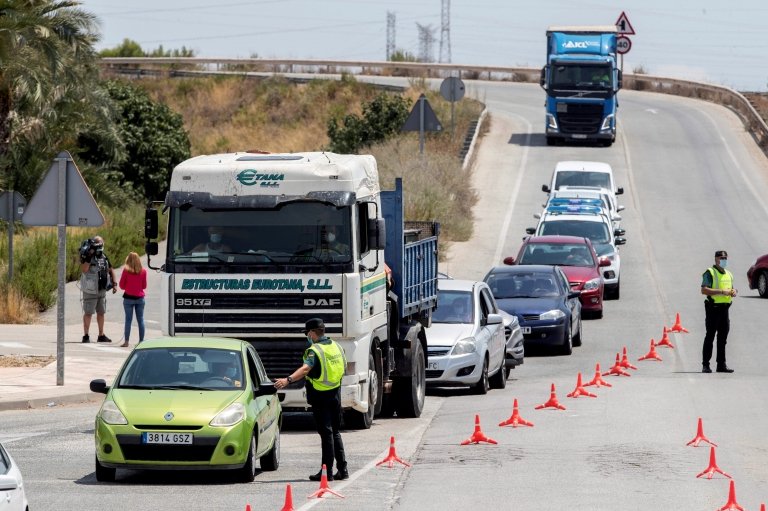
[[[304,323],[320,317],[346,351],[348,427],[421,414],[439,224],[406,225],[401,181],[380,190],[372,156],[198,156],[173,170],[163,211],[165,335],[246,339],[277,378],[301,365]],[[147,209],[148,255],[157,216]],[[308,409],[304,380],[278,396],[285,411]]]

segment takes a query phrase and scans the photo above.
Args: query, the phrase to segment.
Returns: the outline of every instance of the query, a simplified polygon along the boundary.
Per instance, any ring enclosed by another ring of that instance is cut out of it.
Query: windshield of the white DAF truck
[[[171,208],[168,258],[247,265],[345,263],[352,259],[349,207],[292,202],[263,210]]]

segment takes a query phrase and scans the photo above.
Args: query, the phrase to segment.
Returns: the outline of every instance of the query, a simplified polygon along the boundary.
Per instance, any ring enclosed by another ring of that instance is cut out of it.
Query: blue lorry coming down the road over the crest
[[[614,25],[553,26],[547,29],[547,64],[540,85],[547,93],[547,145],[616,140],[617,93]]]

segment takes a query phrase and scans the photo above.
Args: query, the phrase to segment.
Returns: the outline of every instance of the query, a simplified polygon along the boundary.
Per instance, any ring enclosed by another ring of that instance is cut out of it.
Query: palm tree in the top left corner
[[[17,159],[9,154],[14,141],[51,142],[47,129],[57,119],[58,107],[94,94],[98,22],[79,5],[70,0],[0,0],[2,170],[13,168],[11,160]],[[93,112],[86,101],[80,110],[82,115]],[[101,114],[109,115],[107,110]],[[14,179],[3,175],[12,187]]]

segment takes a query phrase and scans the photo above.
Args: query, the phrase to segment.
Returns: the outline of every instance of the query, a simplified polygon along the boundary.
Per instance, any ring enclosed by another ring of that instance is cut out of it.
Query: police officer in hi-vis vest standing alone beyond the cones
[[[702,349],[701,372],[711,373],[709,360],[712,358],[712,343],[717,335],[717,367],[718,373],[732,373],[733,369],[725,363],[725,344],[728,339],[728,330],[731,320],[728,318],[728,309],[731,307],[733,297],[738,291],[733,287],[733,274],[726,270],[728,266],[728,253],[725,250],[715,252],[715,264],[707,268],[701,279],[701,294],[706,295],[704,300],[705,326],[707,333],[704,335],[704,348]]]

